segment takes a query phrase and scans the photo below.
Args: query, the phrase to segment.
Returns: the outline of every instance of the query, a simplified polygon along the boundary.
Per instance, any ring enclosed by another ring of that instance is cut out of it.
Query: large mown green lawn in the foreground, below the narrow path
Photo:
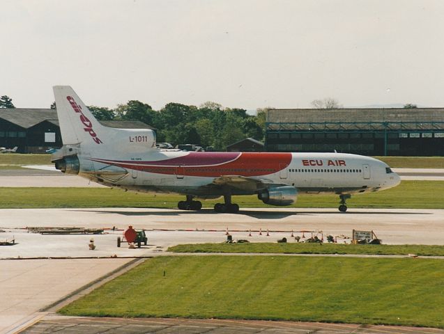
[[[156,257],[60,313],[444,328],[443,263],[344,257]]]

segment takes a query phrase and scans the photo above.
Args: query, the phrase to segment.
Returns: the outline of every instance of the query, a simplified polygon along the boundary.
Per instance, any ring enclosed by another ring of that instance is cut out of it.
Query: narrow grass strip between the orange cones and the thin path
[[[280,253],[280,254],[359,254],[444,256],[444,246],[429,245],[349,245],[349,244],[185,244],[168,248],[175,253]]]

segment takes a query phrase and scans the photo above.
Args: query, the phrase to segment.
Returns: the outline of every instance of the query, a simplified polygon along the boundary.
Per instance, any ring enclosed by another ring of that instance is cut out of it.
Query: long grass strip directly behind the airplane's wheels
[[[0,187],[0,208],[34,207],[157,207],[176,208],[183,196],[130,193],[118,189],[98,188],[6,188]],[[395,188],[377,193],[353,196],[349,208],[423,208],[444,209],[444,182],[403,181]],[[220,200],[204,200],[212,208]],[[243,207],[273,207],[257,196],[235,196],[234,202]],[[299,196],[290,207],[337,207],[335,195]]]

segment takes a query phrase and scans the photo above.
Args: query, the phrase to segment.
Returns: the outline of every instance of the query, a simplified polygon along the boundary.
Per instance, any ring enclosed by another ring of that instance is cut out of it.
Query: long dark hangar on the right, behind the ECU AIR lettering
[[[444,108],[270,109],[266,151],[443,156]]]

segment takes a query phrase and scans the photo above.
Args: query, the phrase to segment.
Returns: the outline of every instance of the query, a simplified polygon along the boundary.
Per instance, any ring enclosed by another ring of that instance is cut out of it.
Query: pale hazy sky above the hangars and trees
[[[1,0],[0,95],[49,108],[444,106],[441,0]]]

